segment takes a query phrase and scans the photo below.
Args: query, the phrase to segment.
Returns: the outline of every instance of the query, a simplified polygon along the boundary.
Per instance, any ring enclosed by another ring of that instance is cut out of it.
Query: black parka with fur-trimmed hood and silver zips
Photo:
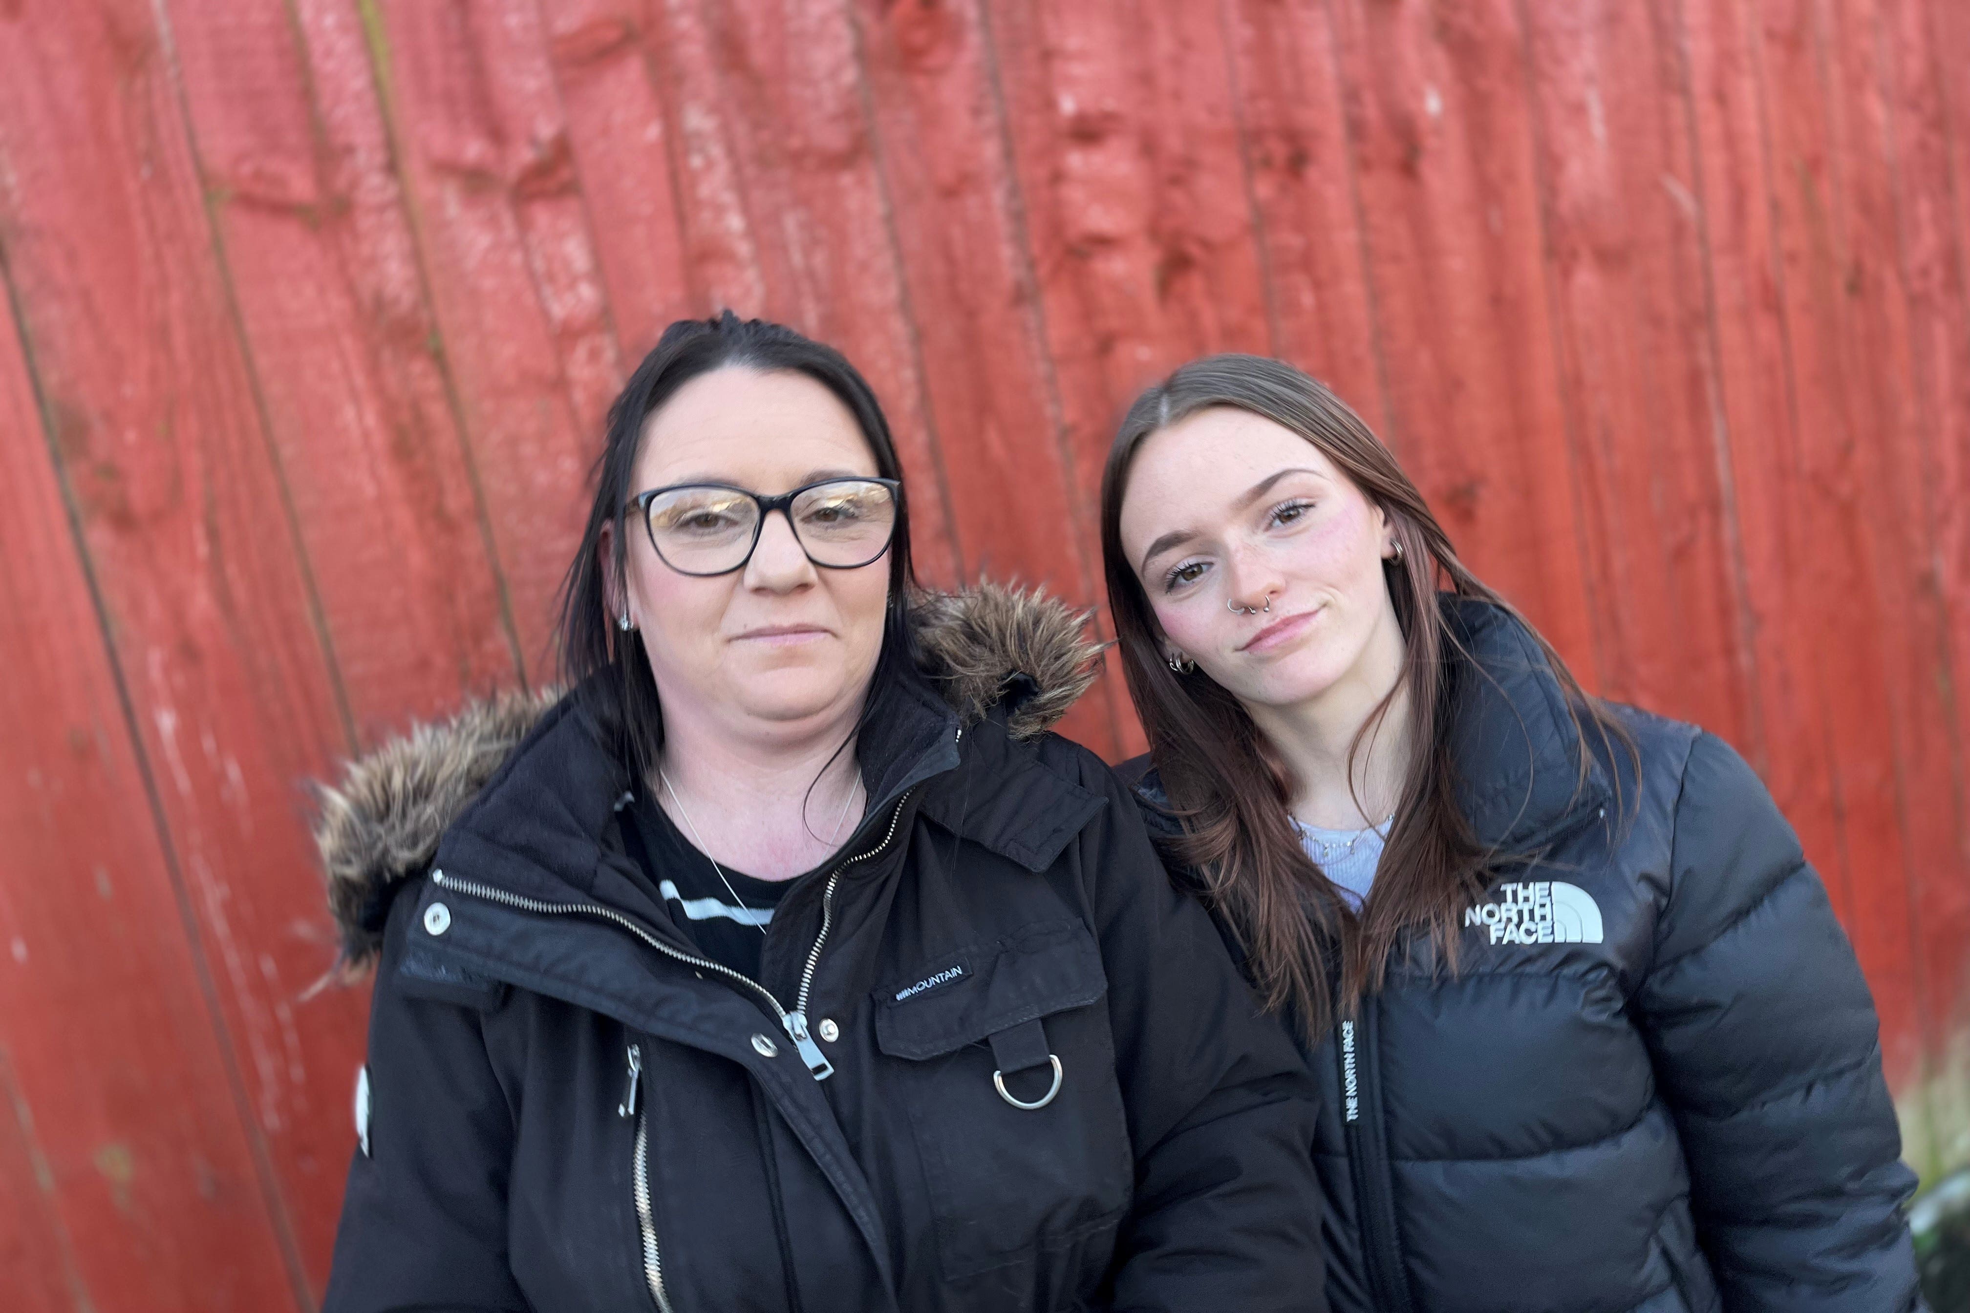
[[[380,967],[325,1313],[1324,1307],[1312,1083],[1125,787],[1042,728],[1091,677],[1080,618],[985,591],[918,636],[764,988],[644,894],[571,703],[329,795]]]

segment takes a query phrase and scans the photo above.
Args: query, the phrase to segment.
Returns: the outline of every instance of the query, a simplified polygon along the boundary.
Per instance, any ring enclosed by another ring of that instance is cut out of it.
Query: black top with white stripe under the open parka
[[[636,795],[628,819],[628,854],[648,888],[670,907],[672,919],[699,953],[756,980],[766,925],[794,882],[756,880],[731,866],[723,868],[725,880],[719,880],[719,868],[684,837],[650,793]]]

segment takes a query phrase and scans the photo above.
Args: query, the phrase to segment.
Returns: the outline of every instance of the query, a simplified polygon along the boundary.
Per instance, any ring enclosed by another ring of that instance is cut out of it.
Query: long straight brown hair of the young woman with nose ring
[[[1162,630],[1121,545],[1121,504],[1143,441],[1212,406],[1251,411],[1318,447],[1387,514],[1401,543],[1401,555],[1383,561],[1383,577],[1403,628],[1403,673],[1355,734],[1349,780],[1353,754],[1405,691],[1411,764],[1375,896],[1359,915],[1300,846],[1288,809],[1294,782],[1273,744],[1210,675],[1178,673],[1164,661]],[[1318,1041],[1336,1010],[1353,1012],[1363,994],[1381,986],[1411,931],[1426,933],[1436,961],[1454,970],[1458,915],[1483,894],[1485,872],[1505,854],[1481,846],[1458,805],[1448,742],[1450,657],[1470,654],[1446,622],[1438,593],[1517,612],[1458,561],[1450,535],[1395,455],[1338,396],[1290,364],[1243,354],[1194,360],[1137,398],[1115,435],[1101,476],[1101,557],[1129,695],[1182,821],[1182,837],[1168,841],[1166,852],[1202,876],[1208,898],[1239,935],[1267,1006],[1290,1004]],[[1527,630],[1560,681],[1574,728],[1590,722],[1604,744],[1625,742],[1558,652]],[[1582,752],[1580,783],[1588,766],[1590,754]]]

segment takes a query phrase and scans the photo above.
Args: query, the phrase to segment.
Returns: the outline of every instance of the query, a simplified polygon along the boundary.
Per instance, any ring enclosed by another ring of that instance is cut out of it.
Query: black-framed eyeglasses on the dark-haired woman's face
[[[758,547],[766,516],[780,512],[794,541],[823,569],[859,569],[888,551],[896,533],[902,482],[894,478],[820,478],[778,496],[731,484],[672,484],[630,498],[650,545],[680,575],[729,575]]]

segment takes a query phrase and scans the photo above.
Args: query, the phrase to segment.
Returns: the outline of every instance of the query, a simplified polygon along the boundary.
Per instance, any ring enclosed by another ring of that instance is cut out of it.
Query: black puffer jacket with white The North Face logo
[[[1576,789],[1531,636],[1450,606],[1466,815],[1544,856],[1468,909],[1454,978],[1418,943],[1308,1059],[1330,1307],[1919,1307],[1873,1002],[1757,776],[1619,709],[1639,778],[1617,750]],[[1158,778],[1137,791],[1168,833]]]

